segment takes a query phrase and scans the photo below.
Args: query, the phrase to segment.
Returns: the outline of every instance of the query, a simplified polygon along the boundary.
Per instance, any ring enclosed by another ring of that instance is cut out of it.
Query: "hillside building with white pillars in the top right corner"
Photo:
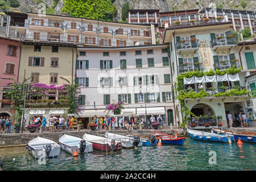
[[[205,7],[199,12],[204,18],[215,18],[218,17],[226,18],[232,22],[230,29],[236,31],[242,31],[244,28],[250,28],[251,34],[256,28],[256,14],[254,11],[245,10],[229,10],[229,9],[212,9]]]

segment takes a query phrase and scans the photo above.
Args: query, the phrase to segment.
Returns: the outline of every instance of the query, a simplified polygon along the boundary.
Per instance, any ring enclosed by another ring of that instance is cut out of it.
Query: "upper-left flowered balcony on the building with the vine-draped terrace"
[[[200,47],[199,40],[193,42],[176,42],[176,49],[179,51],[184,52],[196,52],[196,50]]]

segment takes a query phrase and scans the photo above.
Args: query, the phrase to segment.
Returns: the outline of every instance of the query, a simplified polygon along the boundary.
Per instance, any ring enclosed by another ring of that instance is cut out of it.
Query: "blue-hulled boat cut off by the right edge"
[[[230,130],[224,130],[224,129],[212,129],[213,133],[216,134],[226,134],[226,133],[231,133],[234,135],[234,140],[238,141],[240,140],[242,142],[251,142],[251,143],[256,143],[256,132],[253,131],[242,131],[242,132],[234,132]]]

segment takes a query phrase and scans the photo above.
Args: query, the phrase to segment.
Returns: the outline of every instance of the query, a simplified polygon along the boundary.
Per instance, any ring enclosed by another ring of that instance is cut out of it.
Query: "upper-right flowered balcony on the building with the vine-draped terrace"
[[[233,46],[236,46],[236,39],[235,38],[213,38],[210,40],[210,45],[214,51],[217,49],[229,49]]]

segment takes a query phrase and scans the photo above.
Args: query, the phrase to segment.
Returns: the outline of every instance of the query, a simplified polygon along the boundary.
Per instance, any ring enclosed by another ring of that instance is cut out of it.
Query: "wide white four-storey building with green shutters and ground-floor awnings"
[[[79,47],[77,52],[76,81],[81,88],[81,115],[86,122],[94,115],[113,114],[106,107],[123,102],[125,109],[117,119],[126,120],[133,114],[141,121],[147,112],[147,119],[160,114],[164,126],[177,126],[166,45]]]

